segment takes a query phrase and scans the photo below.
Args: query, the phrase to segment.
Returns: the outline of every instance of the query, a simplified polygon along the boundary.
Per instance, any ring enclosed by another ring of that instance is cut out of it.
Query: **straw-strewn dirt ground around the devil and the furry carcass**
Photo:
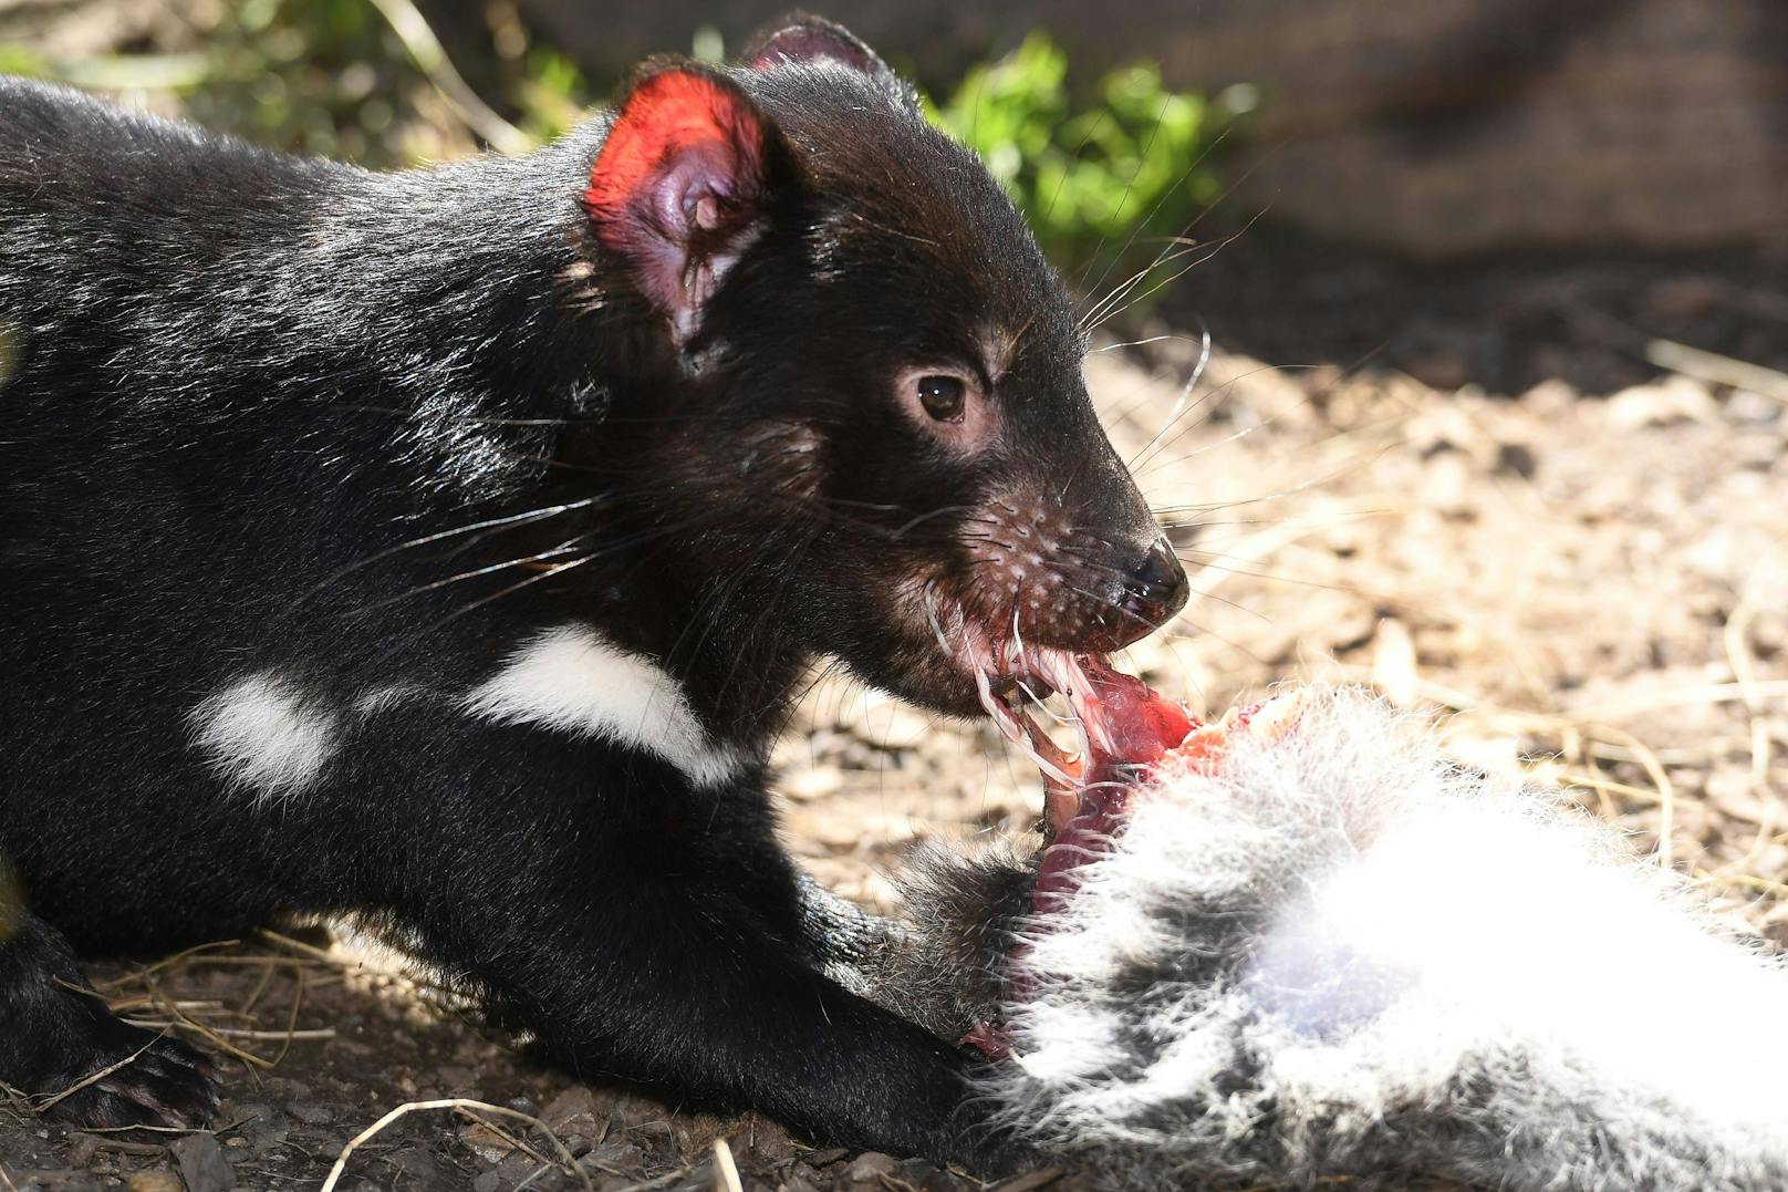
[[[1622,285],[1600,263],[1445,286],[1379,268],[1373,288],[1362,260],[1280,270],[1277,302],[1269,249],[1200,276],[1164,308],[1214,331],[1196,376],[1200,333],[1160,319],[1091,358],[1194,573],[1128,666],[1194,711],[1371,684],[1434,712],[1466,762],[1557,786],[1788,941],[1788,378],[1734,363],[1783,363],[1788,294],[1756,263],[1631,265]],[[837,680],[778,761],[790,847],[869,904],[912,843],[1023,834],[1039,811],[991,727]],[[343,1153],[340,1188],[974,1187],[585,1088],[386,965],[313,932],[98,966],[129,1013],[229,1054],[218,1124],[68,1131],[5,1106],[0,1188],[302,1190]],[[415,1103],[436,1104],[363,1133]]]

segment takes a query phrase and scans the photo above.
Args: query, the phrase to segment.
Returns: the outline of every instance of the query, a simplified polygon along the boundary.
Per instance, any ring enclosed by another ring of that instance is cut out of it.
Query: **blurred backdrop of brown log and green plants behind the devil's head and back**
[[[1141,306],[1196,308],[1262,358],[1377,353],[1441,385],[1609,390],[1643,370],[1622,367],[1631,340],[1609,344],[1622,328],[1572,315],[1588,288],[1641,331],[1783,363],[1788,7],[1774,0],[821,7],[946,107],[1064,268],[1135,224],[1141,238],[1196,220],[1205,243],[1250,227]],[[517,150],[642,55],[722,57],[780,11],[0,0],[0,68],[383,168]],[[1151,260],[1109,256],[1112,276]],[[1566,265],[1568,285],[1532,285]],[[1725,285],[1656,285],[1699,274]],[[1480,311],[1493,326],[1457,326]]]

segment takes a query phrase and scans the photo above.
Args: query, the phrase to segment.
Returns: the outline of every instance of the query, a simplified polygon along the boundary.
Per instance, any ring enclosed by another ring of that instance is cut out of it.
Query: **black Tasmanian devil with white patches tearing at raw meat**
[[[767,754],[831,659],[969,714],[1185,578],[1058,277],[812,18],[526,158],[370,174],[0,82],[0,1079],[202,1117],[75,950],[347,915],[544,1052],[971,1165],[826,975]]]

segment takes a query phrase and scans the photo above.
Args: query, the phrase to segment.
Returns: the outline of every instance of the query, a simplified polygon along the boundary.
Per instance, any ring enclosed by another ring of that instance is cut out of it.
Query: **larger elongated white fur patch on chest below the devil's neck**
[[[497,723],[544,725],[654,754],[697,786],[719,786],[744,755],[715,743],[683,689],[651,659],[592,630],[563,625],[540,634],[465,702]]]

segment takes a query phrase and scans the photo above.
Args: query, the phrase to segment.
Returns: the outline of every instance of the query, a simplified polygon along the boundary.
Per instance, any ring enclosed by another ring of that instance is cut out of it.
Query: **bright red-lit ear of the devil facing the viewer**
[[[679,344],[762,227],[778,143],[735,82],[694,64],[649,68],[619,104],[583,206]]]

